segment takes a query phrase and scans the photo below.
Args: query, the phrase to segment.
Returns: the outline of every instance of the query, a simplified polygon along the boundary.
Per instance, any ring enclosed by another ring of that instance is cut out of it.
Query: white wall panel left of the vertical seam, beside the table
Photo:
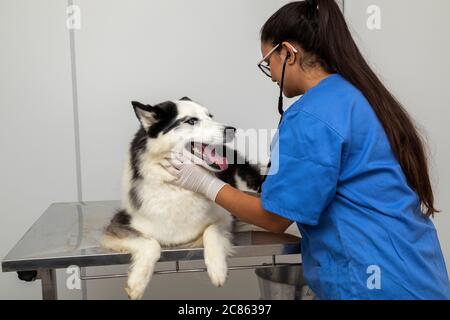
[[[55,201],[76,199],[69,42],[63,1],[0,1],[0,259]],[[0,273],[0,298],[40,283]]]

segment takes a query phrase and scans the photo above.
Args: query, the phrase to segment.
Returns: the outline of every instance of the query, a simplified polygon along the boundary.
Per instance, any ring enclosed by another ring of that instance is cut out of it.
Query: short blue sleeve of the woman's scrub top
[[[262,207],[291,221],[317,225],[336,193],[343,142],[314,115],[287,111],[272,141]]]

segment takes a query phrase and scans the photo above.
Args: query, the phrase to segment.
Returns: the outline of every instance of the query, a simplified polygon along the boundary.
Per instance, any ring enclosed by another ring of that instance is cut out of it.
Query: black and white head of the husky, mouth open
[[[227,168],[223,145],[234,139],[236,129],[214,121],[207,108],[187,97],[155,106],[136,101],[132,105],[148,139],[152,139],[148,144],[152,154],[187,151],[212,171]]]

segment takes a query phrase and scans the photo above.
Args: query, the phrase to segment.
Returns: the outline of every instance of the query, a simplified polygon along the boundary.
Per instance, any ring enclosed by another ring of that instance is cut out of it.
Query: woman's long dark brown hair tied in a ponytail
[[[425,144],[399,101],[372,71],[334,0],[292,2],[273,14],[261,30],[261,41],[292,41],[305,51],[302,68],[320,65],[339,73],[369,101],[381,122],[409,185],[416,191],[424,214],[434,216],[434,196]]]

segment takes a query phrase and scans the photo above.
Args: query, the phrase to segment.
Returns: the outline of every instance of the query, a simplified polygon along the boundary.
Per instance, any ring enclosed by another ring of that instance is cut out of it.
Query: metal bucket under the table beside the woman
[[[255,269],[261,300],[314,300],[301,265]]]

